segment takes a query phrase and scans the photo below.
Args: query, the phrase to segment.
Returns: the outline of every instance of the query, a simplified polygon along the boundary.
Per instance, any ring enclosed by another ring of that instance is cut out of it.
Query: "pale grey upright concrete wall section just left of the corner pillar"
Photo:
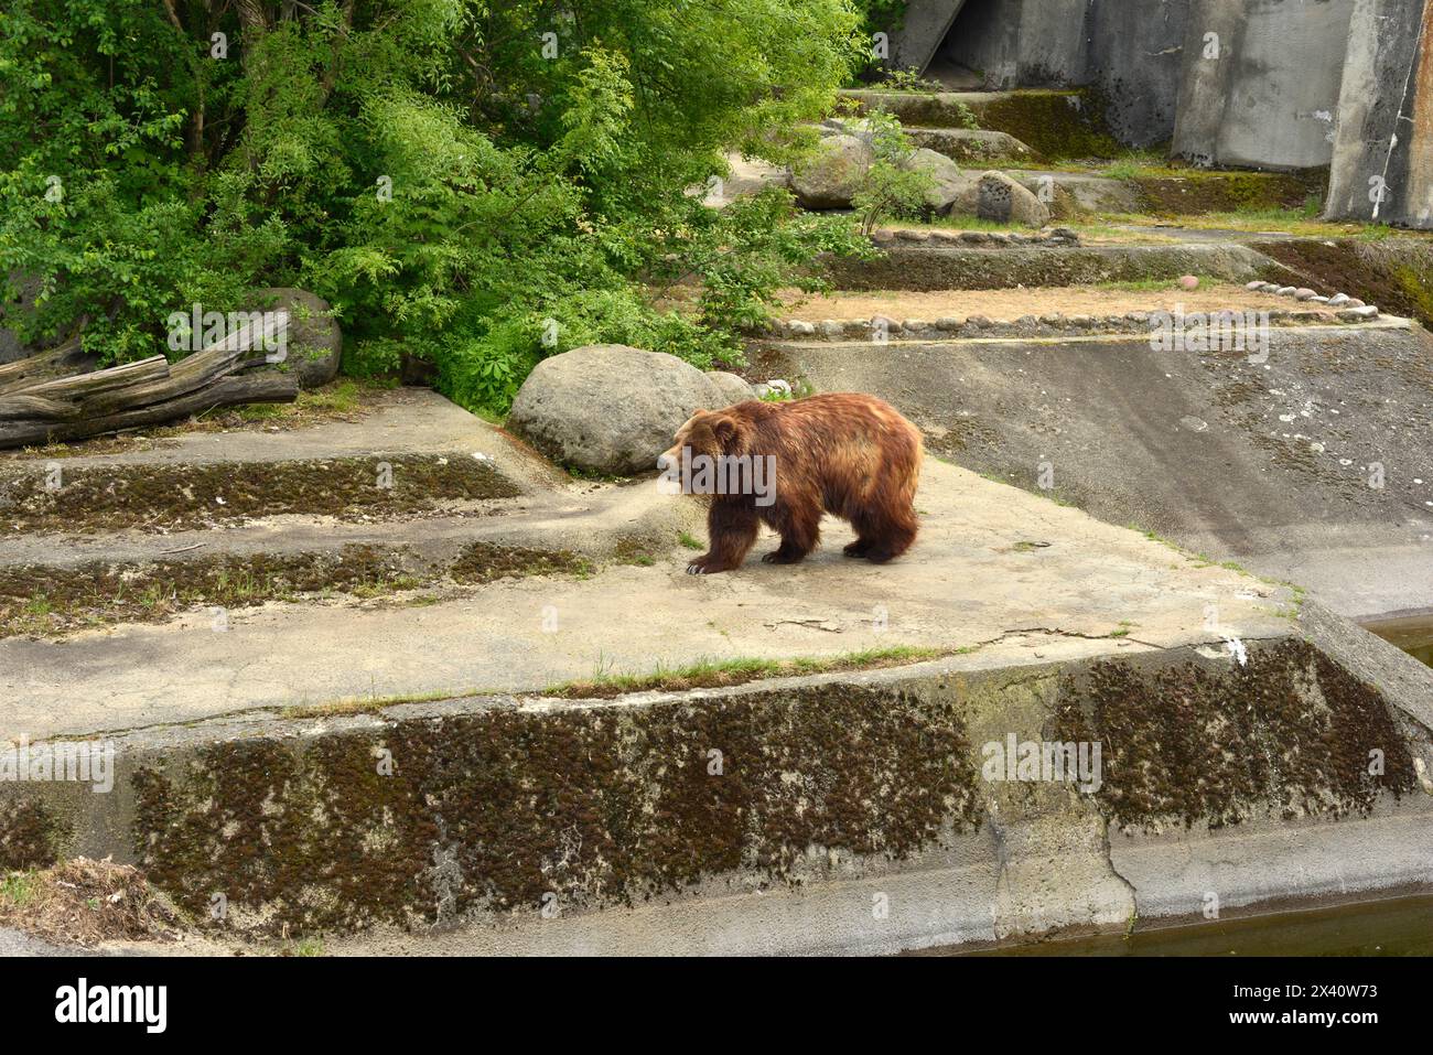
[[[1354,0],[1192,0],[1174,135],[1202,165],[1328,165]]]

